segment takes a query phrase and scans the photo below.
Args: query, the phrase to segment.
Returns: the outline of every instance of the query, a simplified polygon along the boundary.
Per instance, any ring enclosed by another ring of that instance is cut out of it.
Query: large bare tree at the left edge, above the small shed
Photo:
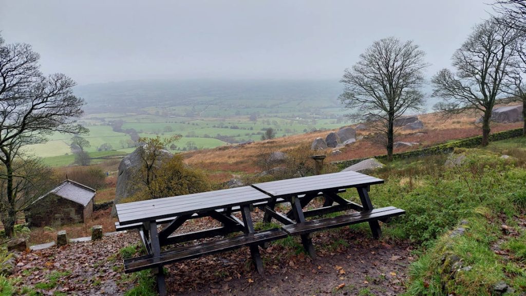
[[[13,236],[17,199],[14,164],[19,149],[46,141],[51,132],[82,134],[75,123],[84,101],[73,95],[74,81],[64,74],[43,76],[39,55],[28,44],[5,44],[0,37],[0,162],[7,200],[1,214],[5,232]]]

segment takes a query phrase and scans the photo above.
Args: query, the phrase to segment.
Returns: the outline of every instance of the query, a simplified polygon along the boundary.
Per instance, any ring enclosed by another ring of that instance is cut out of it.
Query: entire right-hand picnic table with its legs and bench
[[[309,176],[287,180],[257,183],[252,187],[270,195],[272,199],[264,207],[264,222],[272,218],[285,224],[284,229],[288,234],[301,236],[301,242],[312,259],[316,258],[315,250],[310,239],[310,232],[346,226],[360,222],[369,222],[374,238],[381,235],[378,220],[386,220],[393,216],[402,215],[403,210],[395,207],[374,209],[369,197],[371,185],[383,183],[382,179],[364,175],[355,171],[328,173],[325,175]],[[339,193],[349,188],[356,188],[361,205],[339,196]],[[323,197],[323,207],[305,210],[316,197]],[[275,211],[278,200],[290,203],[291,210],[287,215]],[[328,213],[345,210],[355,210],[358,213],[342,215],[335,218],[307,221],[306,218],[322,216]]]

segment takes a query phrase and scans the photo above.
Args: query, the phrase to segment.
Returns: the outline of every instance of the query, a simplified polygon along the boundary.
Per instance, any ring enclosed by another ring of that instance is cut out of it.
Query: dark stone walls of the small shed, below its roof
[[[93,211],[93,200],[90,202]],[[89,207],[89,204],[88,204]],[[83,223],[84,207],[50,193],[24,210],[26,222],[33,227]]]

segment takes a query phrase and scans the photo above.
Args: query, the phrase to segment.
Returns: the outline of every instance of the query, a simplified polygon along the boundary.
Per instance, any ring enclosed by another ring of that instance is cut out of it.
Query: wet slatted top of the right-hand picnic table
[[[383,183],[382,179],[355,171],[327,173],[325,175],[301,177],[287,180],[257,183],[252,185],[272,197],[296,196],[328,189],[345,189]]]

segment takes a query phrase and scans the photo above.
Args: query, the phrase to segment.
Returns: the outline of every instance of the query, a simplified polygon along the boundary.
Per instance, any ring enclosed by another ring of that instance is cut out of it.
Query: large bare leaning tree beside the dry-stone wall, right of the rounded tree
[[[444,115],[479,110],[482,146],[489,144],[491,112],[513,69],[518,31],[492,18],[474,27],[466,42],[453,54],[456,72],[442,69],[432,79],[433,96],[444,101],[434,106]]]

